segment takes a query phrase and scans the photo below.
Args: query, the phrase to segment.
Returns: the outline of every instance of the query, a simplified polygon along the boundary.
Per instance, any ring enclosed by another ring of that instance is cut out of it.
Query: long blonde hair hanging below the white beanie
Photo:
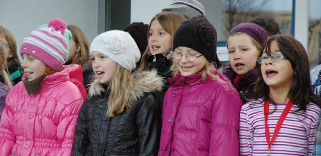
[[[130,93],[133,89],[133,79],[133,75],[127,69],[117,64],[107,90],[110,92],[107,116],[112,117],[122,113],[125,108],[131,108],[133,101],[130,99]]]

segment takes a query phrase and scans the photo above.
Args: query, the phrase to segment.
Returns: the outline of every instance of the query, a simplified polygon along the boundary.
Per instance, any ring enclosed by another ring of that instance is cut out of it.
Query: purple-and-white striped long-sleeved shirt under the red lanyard
[[[250,106],[250,104],[252,105]],[[273,112],[275,106],[276,110]],[[268,117],[270,139],[285,106],[286,103],[270,103],[269,112],[273,112]],[[309,103],[306,106],[306,113],[294,112],[296,109],[298,107],[294,104],[271,145],[270,156],[312,155],[320,108]],[[268,145],[265,139],[264,101],[262,99],[248,102],[242,106],[239,134],[240,155],[267,155]]]

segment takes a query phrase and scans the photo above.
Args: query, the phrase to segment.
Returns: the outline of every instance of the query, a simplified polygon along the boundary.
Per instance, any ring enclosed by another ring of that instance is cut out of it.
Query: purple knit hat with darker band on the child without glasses
[[[268,38],[266,31],[262,27],[254,23],[241,23],[232,28],[227,36],[229,37],[236,32],[242,32],[249,35],[261,45],[263,45],[265,40]]]

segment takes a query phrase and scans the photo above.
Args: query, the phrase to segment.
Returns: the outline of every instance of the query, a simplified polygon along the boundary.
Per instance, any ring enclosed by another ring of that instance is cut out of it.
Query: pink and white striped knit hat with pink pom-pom
[[[68,41],[64,37],[67,25],[60,19],[53,19],[48,28],[33,31],[24,38],[20,55],[29,54],[42,61],[53,70],[65,63]]]

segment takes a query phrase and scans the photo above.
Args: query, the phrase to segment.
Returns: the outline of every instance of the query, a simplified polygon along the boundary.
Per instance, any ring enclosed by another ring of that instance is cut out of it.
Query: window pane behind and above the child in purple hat
[[[318,0],[315,0],[318,1]],[[226,41],[236,25],[266,16],[280,25],[280,32],[291,35],[292,0],[201,0],[206,16],[218,32],[218,41]]]

